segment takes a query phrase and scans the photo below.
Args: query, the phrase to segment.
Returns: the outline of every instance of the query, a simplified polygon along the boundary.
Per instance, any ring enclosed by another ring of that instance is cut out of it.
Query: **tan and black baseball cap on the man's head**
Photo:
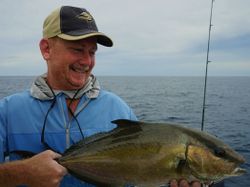
[[[97,43],[106,47],[113,45],[112,40],[99,32],[93,16],[85,9],[62,6],[54,10],[43,23],[43,37],[58,36],[64,40],[80,40],[96,37]]]

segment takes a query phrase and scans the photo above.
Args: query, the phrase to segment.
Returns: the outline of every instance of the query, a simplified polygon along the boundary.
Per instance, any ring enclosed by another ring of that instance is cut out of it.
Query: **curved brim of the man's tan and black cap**
[[[57,36],[64,40],[81,40],[81,39],[85,39],[89,37],[96,37],[97,43],[104,45],[106,47],[113,46],[113,41],[108,36],[100,32],[94,32],[94,33],[89,33],[89,34],[84,34],[84,35],[79,35],[79,36],[72,36],[72,35],[62,33],[62,34],[58,34]]]

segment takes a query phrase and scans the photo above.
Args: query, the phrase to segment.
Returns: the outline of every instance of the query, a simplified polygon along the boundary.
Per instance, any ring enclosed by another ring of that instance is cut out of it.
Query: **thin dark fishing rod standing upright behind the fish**
[[[204,129],[204,117],[205,117],[205,108],[206,108],[206,92],[207,92],[207,69],[209,61],[209,50],[210,50],[210,36],[211,36],[211,28],[212,28],[212,16],[213,16],[213,4],[214,0],[211,2],[211,10],[210,10],[210,21],[209,21],[209,31],[208,31],[208,42],[207,42],[207,59],[206,59],[206,72],[205,72],[205,84],[204,84],[204,95],[203,95],[203,107],[202,107],[202,120],[201,120],[201,130]]]

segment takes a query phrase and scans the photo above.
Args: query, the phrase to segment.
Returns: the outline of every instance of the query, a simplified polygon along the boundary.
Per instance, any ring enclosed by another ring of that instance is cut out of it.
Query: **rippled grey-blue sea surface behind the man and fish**
[[[0,98],[29,89],[34,77],[1,77]],[[201,128],[203,77],[98,77],[102,88],[123,98],[139,120]],[[226,187],[250,186],[250,77],[208,77],[204,130],[246,158],[248,173]]]

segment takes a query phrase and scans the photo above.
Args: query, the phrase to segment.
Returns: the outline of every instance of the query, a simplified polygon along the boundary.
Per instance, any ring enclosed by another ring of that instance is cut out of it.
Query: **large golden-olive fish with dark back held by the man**
[[[115,129],[72,145],[58,162],[103,187],[156,187],[182,178],[210,184],[246,173],[243,156],[211,134],[172,123],[113,123]]]

